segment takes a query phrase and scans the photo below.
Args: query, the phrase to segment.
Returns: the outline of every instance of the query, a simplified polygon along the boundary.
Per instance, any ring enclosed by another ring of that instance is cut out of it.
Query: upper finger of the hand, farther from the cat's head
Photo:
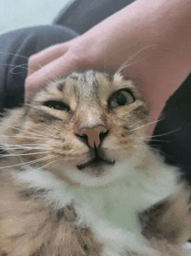
[[[29,59],[28,76],[40,70],[43,66],[54,61],[56,58],[63,56],[68,50],[69,44],[56,44],[32,55]]]

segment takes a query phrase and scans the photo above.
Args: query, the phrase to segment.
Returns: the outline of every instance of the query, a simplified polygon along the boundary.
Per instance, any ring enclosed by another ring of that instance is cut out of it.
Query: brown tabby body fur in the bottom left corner
[[[6,175],[0,180],[0,200],[1,256],[101,255],[102,243],[91,230],[72,226],[72,209],[54,212],[51,205],[30,198]]]

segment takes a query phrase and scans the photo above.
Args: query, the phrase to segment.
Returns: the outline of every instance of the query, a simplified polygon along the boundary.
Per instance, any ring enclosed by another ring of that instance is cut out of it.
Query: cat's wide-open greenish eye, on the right
[[[127,104],[132,104],[135,102],[135,98],[133,95],[125,90],[122,89],[120,91],[116,91],[111,98],[109,98],[109,107],[116,108]]]

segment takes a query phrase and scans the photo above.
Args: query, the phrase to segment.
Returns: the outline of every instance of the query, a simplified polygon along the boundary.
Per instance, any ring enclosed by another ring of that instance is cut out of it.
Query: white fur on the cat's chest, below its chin
[[[100,186],[67,185],[45,170],[27,167],[17,178],[30,186],[49,190],[46,200],[56,207],[74,203],[78,223],[90,226],[97,239],[104,242],[103,255],[125,255],[128,250],[147,252],[136,221],[136,213],[167,198],[179,188],[173,168],[158,163],[153,156],[148,168],[152,172],[135,170],[132,163],[115,164],[122,173],[115,181]],[[148,173],[153,173],[149,175]]]

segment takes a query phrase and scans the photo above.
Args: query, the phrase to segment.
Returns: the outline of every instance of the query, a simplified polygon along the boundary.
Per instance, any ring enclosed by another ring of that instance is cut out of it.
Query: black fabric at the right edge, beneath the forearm
[[[191,74],[164,106],[150,144],[191,183]]]

